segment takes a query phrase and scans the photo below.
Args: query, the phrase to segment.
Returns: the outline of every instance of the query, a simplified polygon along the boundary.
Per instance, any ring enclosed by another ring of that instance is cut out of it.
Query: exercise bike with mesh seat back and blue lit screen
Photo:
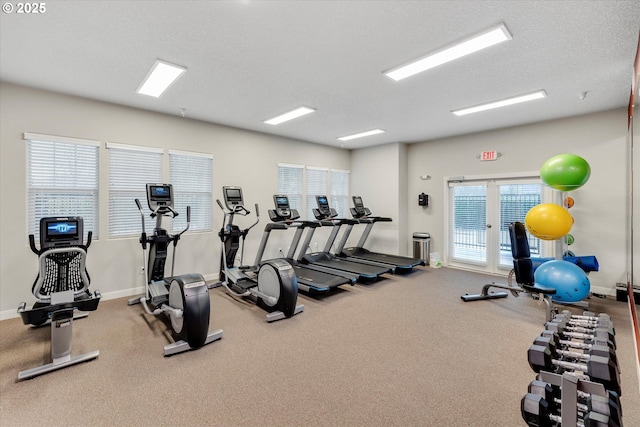
[[[52,362],[18,373],[18,379],[33,378],[56,369],[98,357],[98,350],[71,356],[73,320],[87,317],[100,302],[100,292],[89,292],[89,274],[85,263],[91,244],[91,231],[83,244],[81,217],[42,218],[40,220],[40,249],[33,234],[29,246],[38,255],[40,270],[32,292],[37,302],[31,310],[20,303],[18,313],[25,325],[33,327],[51,323]],[[78,312],[80,310],[80,312]]]

